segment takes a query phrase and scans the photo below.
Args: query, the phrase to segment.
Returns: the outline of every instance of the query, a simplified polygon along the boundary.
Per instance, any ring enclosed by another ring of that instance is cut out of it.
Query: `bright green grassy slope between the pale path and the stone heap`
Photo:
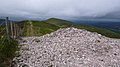
[[[42,22],[35,22],[33,21],[33,30],[34,30],[34,36],[44,35],[51,33],[55,30],[59,29],[58,26],[46,23],[44,21]]]

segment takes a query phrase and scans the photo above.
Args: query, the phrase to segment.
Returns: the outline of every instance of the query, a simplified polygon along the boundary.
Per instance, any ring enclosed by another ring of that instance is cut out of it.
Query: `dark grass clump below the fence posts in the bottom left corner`
[[[18,50],[18,42],[10,39],[5,39],[3,44],[0,44],[0,67],[9,67],[12,59],[15,57],[15,52]]]

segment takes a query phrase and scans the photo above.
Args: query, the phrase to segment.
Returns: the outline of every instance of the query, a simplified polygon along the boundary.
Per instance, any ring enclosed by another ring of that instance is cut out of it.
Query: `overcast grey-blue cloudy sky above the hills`
[[[120,0],[0,0],[0,17],[120,18]]]

